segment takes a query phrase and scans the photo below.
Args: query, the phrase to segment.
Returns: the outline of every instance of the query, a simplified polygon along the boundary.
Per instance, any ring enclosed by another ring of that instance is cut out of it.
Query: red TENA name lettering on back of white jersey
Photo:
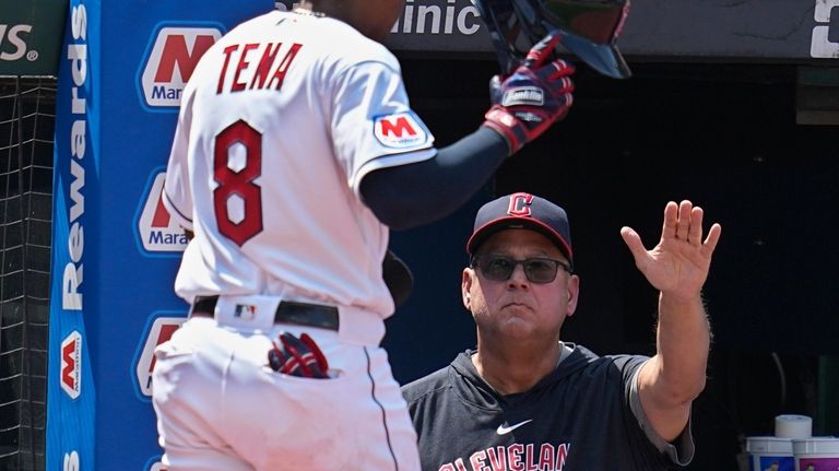
[[[244,90],[280,90],[302,44],[248,43],[224,48],[224,63],[216,93]]]

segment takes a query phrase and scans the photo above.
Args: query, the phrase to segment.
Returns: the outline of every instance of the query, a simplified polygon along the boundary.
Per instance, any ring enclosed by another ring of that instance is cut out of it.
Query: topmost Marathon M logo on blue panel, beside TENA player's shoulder
[[[222,37],[216,27],[166,26],[150,42],[140,78],[142,97],[151,107],[177,107],[198,60]]]

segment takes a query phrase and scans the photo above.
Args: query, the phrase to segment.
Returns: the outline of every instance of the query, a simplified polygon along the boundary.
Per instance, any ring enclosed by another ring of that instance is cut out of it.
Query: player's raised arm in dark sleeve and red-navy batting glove
[[[492,107],[477,131],[440,149],[434,158],[365,176],[361,192],[377,217],[392,228],[406,228],[448,215],[507,156],[564,118],[574,103],[574,67],[550,60],[558,40],[558,34],[548,35],[511,75],[491,80]]]

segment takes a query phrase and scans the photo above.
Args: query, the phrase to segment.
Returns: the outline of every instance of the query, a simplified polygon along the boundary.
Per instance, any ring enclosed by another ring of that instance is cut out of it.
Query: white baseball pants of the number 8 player
[[[309,333],[341,375],[270,369],[281,330]],[[157,348],[152,396],[170,471],[420,470],[383,349],[316,328],[276,326],[270,335],[194,317]]]

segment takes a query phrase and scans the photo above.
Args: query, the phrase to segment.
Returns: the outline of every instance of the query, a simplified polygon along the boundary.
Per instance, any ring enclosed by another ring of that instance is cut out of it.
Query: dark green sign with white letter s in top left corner
[[[0,2],[0,75],[58,75],[67,1]]]

